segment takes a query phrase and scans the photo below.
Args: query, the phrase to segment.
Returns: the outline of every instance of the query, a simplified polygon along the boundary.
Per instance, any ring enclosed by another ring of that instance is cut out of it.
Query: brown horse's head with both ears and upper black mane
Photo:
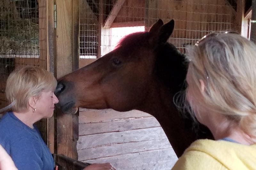
[[[174,20],[164,24],[159,19],[149,32],[127,35],[110,53],[60,78],[57,106],[64,113],[75,113],[78,107],[128,111],[140,109],[159,77],[176,88],[186,72],[182,55],[166,43],[173,28]],[[172,71],[166,72],[163,64]]]

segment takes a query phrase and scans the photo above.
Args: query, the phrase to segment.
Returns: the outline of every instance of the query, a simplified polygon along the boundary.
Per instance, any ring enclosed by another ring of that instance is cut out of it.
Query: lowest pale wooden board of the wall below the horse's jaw
[[[129,153],[120,156],[104,157],[100,159],[84,160],[88,163],[111,163],[116,169],[171,169],[177,161],[177,156],[172,148]]]

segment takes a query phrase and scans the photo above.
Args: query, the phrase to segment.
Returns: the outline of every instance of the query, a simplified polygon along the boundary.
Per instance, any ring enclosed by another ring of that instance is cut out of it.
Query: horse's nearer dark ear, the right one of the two
[[[161,26],[159,30],[158,43],[165,43],[168,38],[171,36],[174,28],[174,20],[167,22],[163,26]]]

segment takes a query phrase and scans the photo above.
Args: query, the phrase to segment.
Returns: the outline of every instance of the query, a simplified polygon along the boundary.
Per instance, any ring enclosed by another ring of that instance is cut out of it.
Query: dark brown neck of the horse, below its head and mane
[[[174,152],[180,157],[185,149],[196,140],[196,133],[191,127],[186,126],[185,119],[172,102],[173,95],[168,88],[164,85],[157,85],[151,89],[144,107],[139,110],[149,113],[157,119]],[[192,120],[186,121],[192,122]]]

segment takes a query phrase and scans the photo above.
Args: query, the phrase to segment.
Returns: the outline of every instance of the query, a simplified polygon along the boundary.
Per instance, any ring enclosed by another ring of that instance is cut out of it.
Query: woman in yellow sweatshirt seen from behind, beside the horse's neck
[[[186,108],[214,140],[197,140],[173,169],[256,167],[256,46],[235,33],[211,33],[188,52]]]

